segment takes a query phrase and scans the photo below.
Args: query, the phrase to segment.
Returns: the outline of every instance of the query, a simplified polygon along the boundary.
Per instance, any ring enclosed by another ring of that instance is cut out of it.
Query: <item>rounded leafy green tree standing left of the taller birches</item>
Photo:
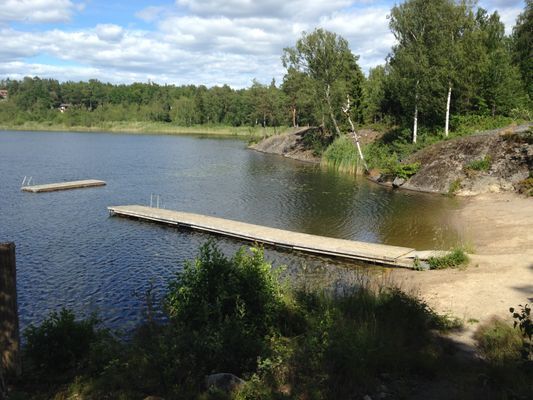
[[[288,71],[303,73],[310,79],[317,98],[326,104],[335,134],[340,135],[338,116],[349,94],[360,100],[363,75],[346,39],[335,33],[316,29],[303,33],[295,47],[283,51],[283,65]]]

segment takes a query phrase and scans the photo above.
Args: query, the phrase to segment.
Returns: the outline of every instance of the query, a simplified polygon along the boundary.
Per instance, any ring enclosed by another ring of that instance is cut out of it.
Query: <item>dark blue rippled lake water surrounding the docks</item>
[[[392,191],[364,179],[246,149],[236,139],[192,136],[0,132],[0,241],[17,245],[21,325],[51,310],[97,311],[112,328],[142,315],[150,282],[168,279],[210,236],[109,217],[107,206],[149,204],[276,228],[377,243],[447,248],[457,200]],[[52,193],[34,183],[102,179],[107,186]],[[217,239],[227,254],[245,243]],[[296,279],[334,284],[357,267],[267,249]],[[377,267],[373,267],[377,268]]]

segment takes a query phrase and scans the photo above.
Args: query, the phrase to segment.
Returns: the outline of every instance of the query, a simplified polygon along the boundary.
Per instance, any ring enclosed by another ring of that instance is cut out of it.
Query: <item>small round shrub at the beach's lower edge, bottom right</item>
[[[481,355],[491,364],[505,365],[520,359],[520,334],[499,318],[481,324],[474,340]]]

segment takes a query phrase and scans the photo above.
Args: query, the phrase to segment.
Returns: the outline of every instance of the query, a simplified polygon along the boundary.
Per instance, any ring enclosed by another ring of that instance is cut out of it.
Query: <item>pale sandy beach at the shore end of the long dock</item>
[[[475,324],[469,319],[509,318],[509,307],[533,303],[533,199],[483,194],[466,200],[454,217],[474,246],[469,267],[394,271],[393,279],[435,310],[464,319],[471,333]]]

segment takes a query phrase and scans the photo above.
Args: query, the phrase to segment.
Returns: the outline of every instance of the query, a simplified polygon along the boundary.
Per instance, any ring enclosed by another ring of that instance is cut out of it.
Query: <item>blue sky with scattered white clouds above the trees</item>
[[[428,0],[430,1],[430,0]],[[283,48],[321,27],[366,73],[394,44],[394,0],[0,0],[0,79],[175,85],[281,82]],[[479,0],[511,32],[524,0]]]

